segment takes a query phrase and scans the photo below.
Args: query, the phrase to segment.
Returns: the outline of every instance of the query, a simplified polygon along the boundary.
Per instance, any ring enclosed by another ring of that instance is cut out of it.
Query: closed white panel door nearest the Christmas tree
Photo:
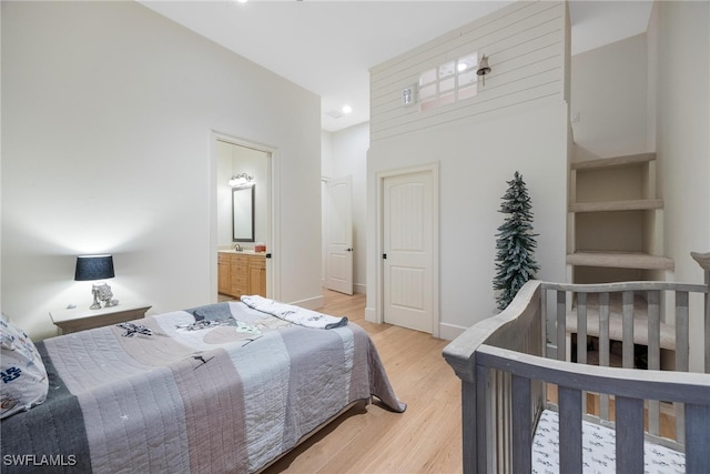
[[[384,321],[428,333],[434,329],[433,219],[430,171],[384,179]]]

